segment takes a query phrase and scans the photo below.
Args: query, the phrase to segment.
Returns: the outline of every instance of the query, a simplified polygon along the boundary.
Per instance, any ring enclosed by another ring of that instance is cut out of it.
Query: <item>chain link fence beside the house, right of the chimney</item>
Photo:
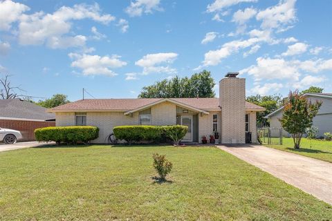
[[[259,128],[257,140],[259,144],[282,145],[282,128]]]

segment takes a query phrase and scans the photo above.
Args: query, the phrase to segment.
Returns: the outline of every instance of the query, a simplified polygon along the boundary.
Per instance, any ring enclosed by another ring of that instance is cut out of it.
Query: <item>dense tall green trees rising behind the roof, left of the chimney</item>
[[[214,97],[214,79],[210,71],[203,70],[191,77],[173,77],[157,81],[151,86],[145,86],[138,97],[167,98],[167,97]]]

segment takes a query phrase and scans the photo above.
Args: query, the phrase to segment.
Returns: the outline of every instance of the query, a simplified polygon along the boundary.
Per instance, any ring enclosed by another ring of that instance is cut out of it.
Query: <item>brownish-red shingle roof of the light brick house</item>
[[[57,106],[50,111],[131,111],[141,106],[158,102],[162,98],[136,98],[136,99],[80,99],[62,106]],[[170,98],[176,102],[199,108],[204,111],[218,109],[219,98]],[[246,102],[246,109],[264,111],[264,108]]]

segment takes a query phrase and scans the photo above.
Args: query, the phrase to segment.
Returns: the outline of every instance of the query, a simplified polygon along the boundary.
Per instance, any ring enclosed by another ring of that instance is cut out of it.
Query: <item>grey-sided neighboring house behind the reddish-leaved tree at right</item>
[[[313,126],[317,127],[318,137],[322,137],[326,132],[332,132],[332,93],[306,93],[303,95],[310,102],[320,101],[322,106],[317,115],[313,118]],[[270,128],[282,128],[279,119],[282,118],[284,106],[273,113],[266,115],[270,119]],[[283,135],[289,137],[287,131],[283,130]]]

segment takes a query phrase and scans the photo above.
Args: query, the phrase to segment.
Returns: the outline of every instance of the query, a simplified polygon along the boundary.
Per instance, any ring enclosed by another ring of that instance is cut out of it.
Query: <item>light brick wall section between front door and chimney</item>
[[[202,137],[206,136],[206,138],[209,140],[210,135],[214,135],[213,133],[213,115],[218,114],[219,115],[219,140],[221,140],[221,111],[211,111],[209,115],[203,115],[199,114],[199,143],[202,142]]]

